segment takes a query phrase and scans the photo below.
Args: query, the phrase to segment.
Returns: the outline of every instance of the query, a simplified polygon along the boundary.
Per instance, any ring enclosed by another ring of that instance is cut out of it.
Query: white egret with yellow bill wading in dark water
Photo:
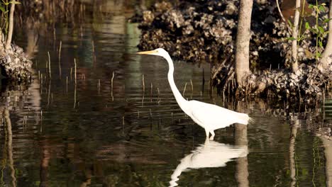
[[[138,54],[157,55],[164,57],[167,60],[169,67],[167,78],[175,99],[179,104],[179,107],[182,109],[182,111],[184,111],[184,113],[189,115],[189,117],[192,118],[195,123],[204,128],[206,137],[209,137],[209,133],[211,133],[210,140],[214,140],[214,130],[216,129],[226,128],[233,123],[248,125],[248,120],[250,120],[250,118],[245,113],[237,113],[235,111],[231,111],[209,103],[203,103],[201,101],[187,101],[184,99],[174,82],[173,61],[168,52],[164,49],[158,48],[156,50],[138,52]]]

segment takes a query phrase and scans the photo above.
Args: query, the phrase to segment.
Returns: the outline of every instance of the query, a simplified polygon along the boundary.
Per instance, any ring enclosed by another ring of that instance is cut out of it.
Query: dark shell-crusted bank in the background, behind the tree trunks
[[[165,1],[156,3],[143,12],[138,47],[163,47],[173,57],[193,62],[221,62],[234,52],[238,7],[239,1],[179,1],[176,6]],[[275,1],[254,1],[252,18],[251,67],[287,67],[291,41],[286,38],[291,35]],[[313,20],[308,17],[304,21]],[[309,32],[306,38],[299,49],[299,61],[311,62],[316,42]]]

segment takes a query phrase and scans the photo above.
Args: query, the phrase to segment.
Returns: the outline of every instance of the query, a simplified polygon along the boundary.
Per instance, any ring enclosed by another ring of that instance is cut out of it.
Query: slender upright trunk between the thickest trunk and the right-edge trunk
[[[292,36],[294,40],[292,40],[292,70],[293,72],[297,72],[299,69],[299,64],[297,63],[297,34],[299,33],[299,8],[301,6],[301,1],[297,0],[295,5],[295,15],[294,15],[294,26],[292,28]]]

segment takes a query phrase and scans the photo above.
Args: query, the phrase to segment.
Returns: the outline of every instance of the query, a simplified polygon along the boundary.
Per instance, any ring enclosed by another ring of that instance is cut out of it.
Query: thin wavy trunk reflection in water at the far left
[[[6,120],[7,126],[7,149],[8,149],[8,158],[9,158],[9,168],[11,169],[11,183],[13,186],[16,186],[16,177],[15,177],[15,169],[13,167],[13,132],[11,132],[11,118],[9,118],[9,111],[4,110],[4,118]]]

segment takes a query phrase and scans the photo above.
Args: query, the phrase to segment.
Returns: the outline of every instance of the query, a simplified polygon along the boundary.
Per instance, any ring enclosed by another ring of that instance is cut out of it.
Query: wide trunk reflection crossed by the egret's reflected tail
[[[235,145],[248,147],[247,125],[236,124],[234,137]],[[236,160],[236,180],[239,187],[249,186],[248,176],[248,157],[240,157]]]

